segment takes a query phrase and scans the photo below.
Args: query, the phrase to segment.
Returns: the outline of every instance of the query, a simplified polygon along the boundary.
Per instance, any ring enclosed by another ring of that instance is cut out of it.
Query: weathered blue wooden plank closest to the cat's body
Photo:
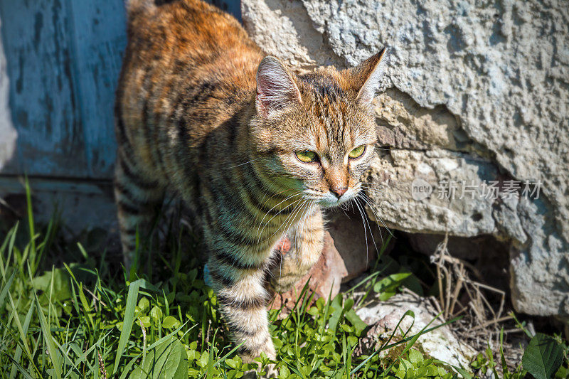
[[[74,83],[85,167],[90,178],[110,177],[115,163],[113,107],[126,46],[122,1],[70,0]]]

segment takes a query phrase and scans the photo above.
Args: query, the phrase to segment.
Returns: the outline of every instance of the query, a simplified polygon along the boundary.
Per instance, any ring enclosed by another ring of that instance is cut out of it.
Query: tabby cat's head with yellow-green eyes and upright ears
[[[295,75],[266,57],[257,70],[252,144],[280,187],[322,207],[354,198],[376,143],[371,101],[385,48],[355,68]]]

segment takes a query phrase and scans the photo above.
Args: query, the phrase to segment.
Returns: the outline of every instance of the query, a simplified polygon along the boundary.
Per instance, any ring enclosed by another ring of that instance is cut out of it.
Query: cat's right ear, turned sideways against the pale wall
[[[360,104],[368,105],[376,96],[387,60],[387,49],[383,48],[349,70],[353,87],[358,90],[357,101]]]

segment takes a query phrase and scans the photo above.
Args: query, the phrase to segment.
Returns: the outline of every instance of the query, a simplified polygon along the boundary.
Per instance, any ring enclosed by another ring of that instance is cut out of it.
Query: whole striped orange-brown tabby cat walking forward
[[[296,75],[200,0],[129,1],[115,107],[122,248],[128,260],[166,190],[195,209],[207,279],[245,361],[275,358],[265,283],[297,282],[323,247],[321,209],[361,188],[384,53]],[[283,237],[292,249],[270,272]]]

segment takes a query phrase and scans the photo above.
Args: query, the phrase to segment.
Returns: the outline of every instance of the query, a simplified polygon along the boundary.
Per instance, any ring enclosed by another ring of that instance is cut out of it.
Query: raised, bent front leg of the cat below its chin
[[[289,245],[289,250],[281,249],[280,262],[271,269],[271,285],[280,293],[292,289],[320,258],[324,247],[321,210],[317,208],[314,213],[302,218],[286,238],[285,245]]]

